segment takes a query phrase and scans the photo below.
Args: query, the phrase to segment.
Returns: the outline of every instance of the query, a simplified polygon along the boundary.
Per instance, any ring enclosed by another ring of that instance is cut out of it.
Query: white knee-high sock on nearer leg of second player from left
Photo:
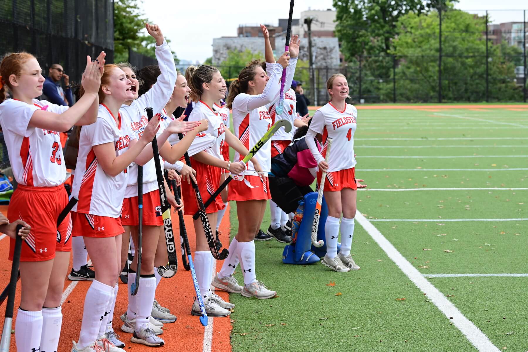
[[[77,346],[80,349],[93,344],[99,338],[101,321],[105,317],[105,309],[112,298],[112,287],[93,280],[86,298],[84,298],[84,310],[82,312],[82,324]]]

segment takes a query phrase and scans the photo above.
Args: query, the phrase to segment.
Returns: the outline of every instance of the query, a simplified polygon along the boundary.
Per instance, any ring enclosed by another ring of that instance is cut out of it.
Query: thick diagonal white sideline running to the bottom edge
[[[359,212],[356,212],[356,221],[363,226],[363,229],[372,237],[389,258],[403,271],[404,274],[432,301],[433,305],[451,321],[469,340],[469,342],[482,352],[499,352],[489,338],[479,328],[467,319],[458,308],[453,305],[436,287],[434,287],[422,274],[412,266],[407,259],[394,248],[381,232],[372,225],[369,220]]]

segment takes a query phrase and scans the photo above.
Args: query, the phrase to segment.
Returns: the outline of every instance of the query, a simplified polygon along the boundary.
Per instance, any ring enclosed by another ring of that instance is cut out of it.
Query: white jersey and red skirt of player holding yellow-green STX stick
[[[225,142],[225,126],[217,113],[215,113],[207,104],[200,100],[194,106],[194,109],[191,112],[191,115],[189,115],[188,120],[200,121],[202,119],[208,120],[208,129],[197,135],[192,145],[195,145],[196,143],[202,148],[206,147],[205,149],[202,149],[205,151],[205,153],[211,154],[215,158],[223,160],[222,148]],[[204,139],[204,137],[207,136],[214,138]],[[205,142],[207,144],[205,144]],[[191,155],[191,153],[189,155]],[[197,161],[194,158],[191,158],[191,164],[193,169],[196,170],[196,181],[198,182],[202,200],[205,203],[220,185],[220,175],[222,173],[222,169],[216,166],[202,164],[200,161]],[[182,196],[186,201],[185,214],[193,215],[196,213],[199,208],[195,201],[196,195],[192,185],[182,182]],[[219,210],[222,210],[224,207],[225,205],[222,202],[222,197],[218,195],[215,198],[215,202],[212,202],[207,208],[205,208],[205,212],[216,213]]]

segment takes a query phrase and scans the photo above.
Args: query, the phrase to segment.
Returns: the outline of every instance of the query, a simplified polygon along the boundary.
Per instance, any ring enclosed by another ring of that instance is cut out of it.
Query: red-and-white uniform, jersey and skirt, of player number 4
[[[343,188],[356,189],[354,179],[354,132],[356,131],[357,110],[351,104],[345,104],[343,111],[337,110],[332,102],[328,102],[318,109],[309,130],[315,134],[322,134],[323,149],[321,153],[314,153],[312,146],[310,150],[314,154],[317,163],[323,161],[326,156],[328,137],[332,138],[332,147],[328,158],[328,171],[326,174],[325,191],[341,191]],[[307,134],[308,136],[308,134]],[[307,140],[308,141],[308,140]],[[311,144],[311,143],[310,143]],[[317,173],[320,180],[321,172]]]

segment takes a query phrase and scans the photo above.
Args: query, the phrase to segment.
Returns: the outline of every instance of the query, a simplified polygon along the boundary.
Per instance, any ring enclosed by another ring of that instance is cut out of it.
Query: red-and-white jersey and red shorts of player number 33
[[[56,251],[71,250],[71,218],[57,227],[60,212],[68,203],[63,183],[66,168],[62,160],[60,133],[29,127],[36,110],[62,113],[68,107],[45,100],[33,104],[7,99],[0,104],[0,125],[18,187],[13,193],[7,217],[22,219],[32,230],[22,246],[21,261],[45,261]],[[15,241],[10,241],[12,259]]]

